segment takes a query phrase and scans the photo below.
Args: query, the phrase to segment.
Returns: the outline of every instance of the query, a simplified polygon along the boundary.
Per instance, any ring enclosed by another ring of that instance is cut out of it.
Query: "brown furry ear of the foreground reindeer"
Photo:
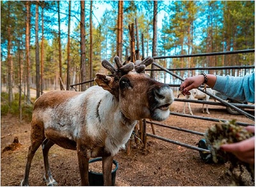
[[[102,87],[106,91],[111,91],[113,88],[114,78],[109,77],[103,73],[96,73],[95,82],[98,86]]]

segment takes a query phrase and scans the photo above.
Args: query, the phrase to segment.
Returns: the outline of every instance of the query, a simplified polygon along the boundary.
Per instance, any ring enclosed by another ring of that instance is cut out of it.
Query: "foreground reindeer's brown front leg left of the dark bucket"
[[[81,186],[89,186],[89,159],[86,156],[86,148],[77,144],[77,158],[81,177]]]

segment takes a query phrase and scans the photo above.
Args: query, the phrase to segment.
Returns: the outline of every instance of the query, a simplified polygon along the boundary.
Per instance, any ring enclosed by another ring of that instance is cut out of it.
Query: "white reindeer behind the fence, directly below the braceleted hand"
[[[207,92],[212,94],[213,90],[210,87],[206,88],[206,89],[207,89]],[[188,95],[188,94],[185,95],[185,98],[187,100],[201,99],[201,100],[204,100],[204,101],[209,101],[210,96],[207,95],[206,93],[198,90],[198,89],[191,89],[189,92],[190,92],[190,95]],[[184,104],[183,104],[183,114],[186,114],[185,109],[186,109],[186,104],[187,103],[188,103],[189,114],[193,115],[193,112],[191,110],[189,102],[184,102]],[[204,113],[204,105],[206,105],[206,113],[210,114],[207,104],[203,104],[203,113]]]

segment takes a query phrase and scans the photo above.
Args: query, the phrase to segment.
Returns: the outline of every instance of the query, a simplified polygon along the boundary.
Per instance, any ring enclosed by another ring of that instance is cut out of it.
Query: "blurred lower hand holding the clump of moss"
[[[246,126],[246,130],[254,133],[255,126]],[[233,144],[223,144],[220,148],[233,153],[241,161],[255,163],[255,137]]]

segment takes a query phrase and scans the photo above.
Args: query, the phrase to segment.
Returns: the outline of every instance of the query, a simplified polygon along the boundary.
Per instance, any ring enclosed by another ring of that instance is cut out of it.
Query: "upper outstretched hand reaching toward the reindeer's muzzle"
[[[197,88],[204,83],[204,75],[197,75],[194,77],[188,77],[180,84],[180,92],[185,94],[190,94],[189,90]]]

